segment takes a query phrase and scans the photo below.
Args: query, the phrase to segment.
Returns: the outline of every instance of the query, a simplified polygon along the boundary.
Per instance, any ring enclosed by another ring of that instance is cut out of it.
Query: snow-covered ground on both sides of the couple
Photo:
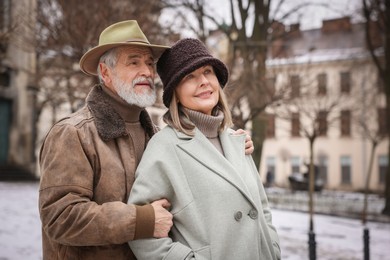
[[[37,182],[0,182],[0,260],[42,258],[37,199]],[[274,209],[273,216],[282,259],[308,259],[308,215]],[[369,222],[368,227],[370,259],[390,260],[390,224]],[[363,259],[360,221],[315,215],[314,230],[318,260]]]

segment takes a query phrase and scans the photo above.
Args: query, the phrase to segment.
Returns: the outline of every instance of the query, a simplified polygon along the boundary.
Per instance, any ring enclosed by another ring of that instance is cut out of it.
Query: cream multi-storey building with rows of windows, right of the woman
[[[259,169],[264,182],[271,175],[273,185],[287,188],[290,175],[306,172],[315,134],[313,159],[326,189],[364,190],[375,142],[369,189],[382,192],[388,167],[385,96],[364,24],[343,17],[319,29],[291,28],[267,60],[268,82],[284,90],[285,99],[266,109]]]

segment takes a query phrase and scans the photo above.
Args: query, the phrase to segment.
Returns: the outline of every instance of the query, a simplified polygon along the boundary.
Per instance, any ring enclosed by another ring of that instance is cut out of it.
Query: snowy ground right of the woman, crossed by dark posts
[[[279,233],[282,259],[308,259],[309,216],[306,213],[273,210]],[[363,226],[359,220],[314,215],[318,260],[363,258]],[[390,224],[369,222],[370,259],[390,260]]]

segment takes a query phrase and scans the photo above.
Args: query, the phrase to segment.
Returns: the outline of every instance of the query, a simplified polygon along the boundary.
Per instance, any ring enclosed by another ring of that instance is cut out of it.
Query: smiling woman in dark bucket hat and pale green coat
[[[245,136],[233,135],[228,70],[196,39],[157,63],[167,126],[149,142],[129,203],[171,202],[170,237],[129,244],[137,259],[280,259],[264,187]]]

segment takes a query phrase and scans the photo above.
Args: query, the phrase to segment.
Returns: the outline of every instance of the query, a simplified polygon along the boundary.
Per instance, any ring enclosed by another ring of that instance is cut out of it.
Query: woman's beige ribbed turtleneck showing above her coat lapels
[[[218,110],[216,116],[209,116],[204,113],[186,109],[192,123],[210,140],[217,150],[224,155],[221,141],[219,140],[218,129],[223,121],[224,115]]]

